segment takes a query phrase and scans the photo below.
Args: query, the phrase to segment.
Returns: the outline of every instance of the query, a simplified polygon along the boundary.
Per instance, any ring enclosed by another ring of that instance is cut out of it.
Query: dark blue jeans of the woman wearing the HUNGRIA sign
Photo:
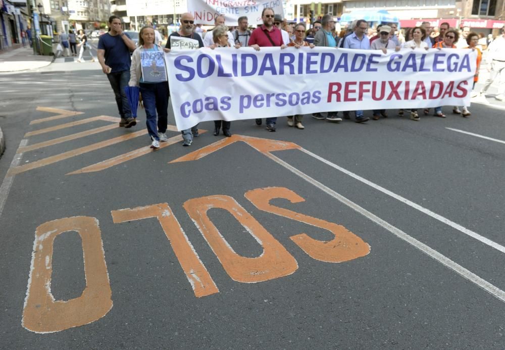
[[[168,82],[140,83],[140,93],[144,102],[147,132],[151,138],[159,141],[158,131],[167,131]],[[156,123],[156,112],[158,112],[158,123]]]

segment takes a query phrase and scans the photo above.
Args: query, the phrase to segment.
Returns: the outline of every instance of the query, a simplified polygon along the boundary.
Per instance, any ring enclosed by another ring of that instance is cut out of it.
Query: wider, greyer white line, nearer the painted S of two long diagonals
[[[469,281],[475,283],[476,285],[478,285],[479,287],[481,287],[485,291],[489,292],[490,294],[492,294],[496,298],[500,299],[502,302],[505,302],[505,291],[499,289],[498,287],[496,287],[495,285],[489,283],[485,279],[477,276],[473,272],[465,269],[463,266],[459,265],[458,263],[453,262],[452,260],[450,260],[446,256],[444,256],[444,255],[440,254],[439,252],[435,251],[435,249],[430,248],[428,245],[426,245],[426,244],[418,241],[416,238],[408,235],[407,233],[403,232],[399,228],[394,227],[393,225],[391,225],[388,222],[382,220],[378,216],[370,213],[369,211],[367,211],[366,209],[360,207],[356,203],[350,201],[349,199],[347,199],[343,195],[335,192],[331,188],[323,185],[321,182],[319,182],[319,181],[313,179],[312,177],[310,177],[309,175],[307,175],[307,174],[299,171],[298,169],[294,168],[293,166],[289,165],[288,163],[284,162],[283,160],[277,158],[276,156],[274,156],[274,155],[272,155],[270,153],[264,153],[264,155],[266,155],[267,157],[269,157],[270,159],[272,159],[277,164],[282,165],[284,168],[288,169],[289,171],[291,171],[295,175],[298,175],[302,179],[306,180],[310,184],[313,184],[314,186],[316,186],[319,189],[323,190],[324,192],[328,193],[329,195],[331,195],[332,197],[334,197],[335,199],[337,199],[339,202],[345,204],[349,208],[354,209],[358,213],[366,216],[368,219],[370,219],[371,221],[375,222],[379,226],[385,228],[386,230],[388,230],[389,232],[391,232],[392,234],[394,234],[398,238],[403,239],[407,243],[409,243],[409,244],[413,245],[414,247],[418,248],[421,252],[423,252],[426,255],[430,256],[431,258],[435,259],[436,261],[438,261],[442,265],[448,267],[449,269],[451,269],[452,271],[455,271],[456,273],[458,273],[462,277],[464,277],[464,278],[468,279]]]

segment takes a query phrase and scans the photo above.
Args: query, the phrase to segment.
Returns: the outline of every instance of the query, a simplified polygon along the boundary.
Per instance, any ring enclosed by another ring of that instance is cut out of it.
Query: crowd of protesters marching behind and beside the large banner
[[[112,16],[110,24],[120,21],[119,18]],[[371,31],[368,23],[365,20],[354,21],[348,28],[335,31],[335,22],[333,16],[325,15],[321,20],[315,21],[312,28],[307,29],[305,23],[287,23],[280,16],[274,13],[271,8],[265,8],[262,12],[263,24],[259,25],[256,29],[249,28],[247,17],[240,17],[235,28],[227,27],[224,25],[225,19],[223,16],[215,18],[215,26],[213,29],[204,32],[201,26],[194,23],[194,18],[191,14],[185,13],[181,16],[181,26],[179,31],[172,33],[167,40],[165,48],[158,45],[154,38],[154,28],[151,26],[144,26],[140,30],[139,47],[135,49],[133,60],[129,72],[122,70],[122,73],[128,74],[128,79],[121,77],[120,81],[116,81],[109,77],[111,86],[116,93],[116,101],[118,102],[118,109],[121,115],[120,126],[130,127],[135,125],[131,121],[131,113],[128,107],[125,106],[124,86],[140,86],[140,91],[145,96],[143,103],[147,115],[147,129],[151,137],[151,147],[160,147],[160,141],[165,141],[167,136],[165,134],[167,128],[167,101],[169,96],[168,81],[165,79],[156,84],[143,79],[140,72],[142,65],[142,53],[148,51],[170,51],[171,37],[182,36],[197,40],[199,47],[245,47],[249,46],[257,51],[261,47],[277,46],[285,48],[287,46],[294,46],[296,48],[302,46],[315,47],[342,47],[347,49],[372,49],[381,50],[386,53],[387,50],[398,51],[402,48],[411,49],[429,49],[429,48],[468,48],[477,51],[477,70],[474,76],[474,87],[479,77],[479,66],[482,60],[483,49],[488,50],[486,64],[490,72],[489,78],[484,83],[484,87],[479,92],[484,94],[491,83],[501,75],[501,79],[505,79],[503,69],[505,68],[505,27],[501,29],[501,35],[496,37],[493,41],[489,42],[483,35],[471,32],[469,28],[457,30],[450,28],[448,23],[442,23],[438,32],[434,32],[429,22],[423,22],[420,26],[409,28],[404,33],[398,31],[396,23],[380,24],[376,27],[376,32]],[[115,45],[125,46],[127,51],[131,51],[131,42],[128,40],[127,35],[117,30],[115,33],[118,38],[115,40]],[[125,38],[126,35],[126,38]],[[120,40],[122,39],[122,40]],[[484,40],[483,40],[484,39]],[[102,37],[100,37],[100,42]],[[111,75],[115,72],[114,61],[119,59],[118,55],[111,52],[124,52],[124,47],[118,49],[114,46],[105,48],[103,44],[98,44],[98,60],[102,65],[104,73]],[[104,50],[100,52],[101,50]],[[107,53],[109,51],[109,53]],[[124,56],[124,55],[123,55]],[[108,59],[109,57],[109,59]],[[112,58],[112,59],[111,59]],[[128,55],[129,61],[129,55]],[[128,62],[129,64],[129,62]],[[111,69],[112,68],[112,69]],[[477,93],[473,92],[473,96]],[[163,98],[166,96],[166,98]],[[146,98],[147,97],[147,98]],[[498,84],[498,94],[496,99],[502,100],[505,97],[505,81]],[[161,101],[164,100],[164,101]],[[460,109],[461,108],[461,109]],[[124,110],[123,110],[124,109]],[[157,116],[158,112],[158,116]],[[452,112],[464,117],[471,115],[467,106],[452,106]],[[397,111],[398,115],[403,115],[404,110]],[[416,109],[408,111],[410,118],[415,121],[420,120],[419,113]],[[430,110],[425,108],[424,115],[428,115]],[[343,118],[350,119],[351,111],[344,111]],[[365,123],[370,120],[365,116],[363,110],[354,111],[355,121],[357,123]],[[380,118],[387,118],[385,110],[373,110],[372,118],[378,120]],[[445,118],[442,112],[442,107],[434,109],[434,116]],[[301,115],[287,116],[287,124],[294,126],[298,129],[304,129],[302,125]],[[328,112],[326,116],[323,113],[314,113],[313,118],[319,120],[328,120],[330,122],[340,122],[342,118],[338,116],[338,112]],[[277,117],[266,119],[266,129],[268,131],[276,131]],[[158,120],[158,121],[157,121]],[[262,119],[256,119],[257,125],[262,125]],[[191,129],[183,130],[183,145],[189,146],[192,143],[193,137],[198,136],[198,126],[195,125]],[[230,121],[215,121],[214,135],[219,135],[221,129],[225,136],[231,136],[231,122]]]

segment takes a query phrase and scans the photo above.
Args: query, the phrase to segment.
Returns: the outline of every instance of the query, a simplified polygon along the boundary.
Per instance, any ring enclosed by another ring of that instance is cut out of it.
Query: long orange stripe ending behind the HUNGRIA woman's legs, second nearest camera
[[[28,170],[32,170],[32,169],[46,166],[48,164],[60,162],[65,159],[69,159],[69,158],[72,158],[75,156],[82,155],[84,153],[95,151],[95,149],[104,148],[104,147],[110,146],[112,144],[123,142],[123,141],[129,140],[131,138],[135,138],[135,137],[142,136],[145,134],[147,134],[147,130],[143,129],[140,131],[132,132],[130,134],[121,135],[121,136],[114,137],[114,138],[111,138],[111,139],[108,139],[105,141],[100,141],[100,142],[96,142],[96,143],[93,143],[93,144],[90,144],[87,146],[72,149],[72,151],[64,152],[64,153],[56,155],[56,156],[47,157],[47,158],[44,158],[44,159],[41,159],[41,160],[38,160],[38,161],[35,161],[32,163],[27,163],[25,165],[20,165],[15,168],[11,168],[7,172],[7,176],[16,175],[16,174],[23,173]]]

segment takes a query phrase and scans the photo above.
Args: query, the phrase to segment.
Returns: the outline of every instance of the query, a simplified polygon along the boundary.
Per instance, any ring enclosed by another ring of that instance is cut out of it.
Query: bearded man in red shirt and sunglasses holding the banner
[[[282,42],[282,33],[279,28],[274,26],[274,9],[265,8],[261,14],[263,25],[252,31],[249,38],[248,46],[254,47],[256,51],[260,51],[260,47],[279,46],[286,47]],[[275,123],[277,117],[267,118],[267,130],[275,131]],[[261,125],[261,119],[256,119],[256,125]]]

